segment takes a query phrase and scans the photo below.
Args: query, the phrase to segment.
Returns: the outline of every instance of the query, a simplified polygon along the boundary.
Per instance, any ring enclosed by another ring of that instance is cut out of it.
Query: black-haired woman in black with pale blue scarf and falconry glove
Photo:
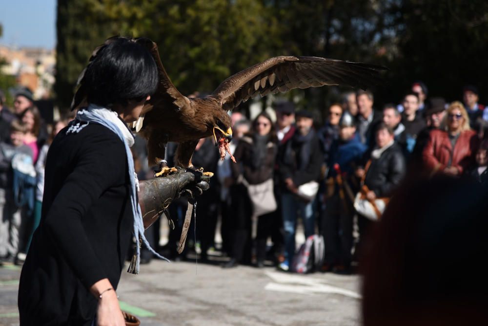
[[[194,172],[137,180],[127,123],[157,85],[154,59],[137,40],[111,38],[91,58],[80,86],[86,106],[47,155],[41,223],[20,275],[20,325],[125,325],[115,289],[131,231],[128,272],[137,274],[144,227],[185,188],[205,188]]]

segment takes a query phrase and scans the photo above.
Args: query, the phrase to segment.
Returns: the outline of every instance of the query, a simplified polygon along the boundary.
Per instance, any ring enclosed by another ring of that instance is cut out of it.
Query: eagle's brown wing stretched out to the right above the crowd
[[[318,57],[275,57],[227,78],[211,96],[225,110],[237,107],[258,94],[286,92],[293,88],[343,85],[366,89],[380,84],[379,65]]]

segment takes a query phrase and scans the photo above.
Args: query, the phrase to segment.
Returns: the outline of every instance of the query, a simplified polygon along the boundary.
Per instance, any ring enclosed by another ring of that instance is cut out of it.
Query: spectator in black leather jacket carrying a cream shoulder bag
[[[407,172],[405,157],[401,148],[395,144],[393,130],[384,123],[381,123],[376,130],[376,144],[365,169],[356,171],[358,177],[364,178],[364,185],[369,190],[366,198],[369,200],[391,197]],[[370,223],[369,219],[358,215],[357,252],[360,255],[365,245]]]

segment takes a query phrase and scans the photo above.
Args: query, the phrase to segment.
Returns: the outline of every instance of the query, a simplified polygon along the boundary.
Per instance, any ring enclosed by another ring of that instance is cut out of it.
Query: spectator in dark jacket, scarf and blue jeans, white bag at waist
[[[296,114],[297,132],[286,143],[282,156],[278,158],[282,181],[282,216],[285,228],[285,261],[279,266],[288,270],[295,253],[295,226],[298,214],[305,225],[305,237],[315,233],[315,219],[312,202],[296,196],[298,187],[310,181],[316,181],[324,156],[315,130],[313,119],[308,111]]]

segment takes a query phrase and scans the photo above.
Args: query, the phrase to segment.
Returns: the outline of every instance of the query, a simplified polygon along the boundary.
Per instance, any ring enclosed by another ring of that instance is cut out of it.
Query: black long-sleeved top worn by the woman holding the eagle
[[[41,224],[20,275],[20,325],[91,325],[89,287],[117,287],[133,229],[122,140],[90,123],[66,127],[47,155]]]

